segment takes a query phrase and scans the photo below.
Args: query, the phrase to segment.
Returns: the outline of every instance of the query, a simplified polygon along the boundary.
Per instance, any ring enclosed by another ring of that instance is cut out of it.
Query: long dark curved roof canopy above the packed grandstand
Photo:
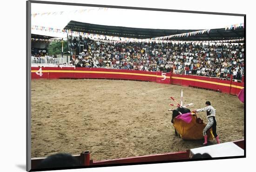
[[[189,33],[199,30],[177,30],[177,29],[146,29],[122,26],[106,26],[90,23],[83,23],[71,20],[64,29],[70,29],[75,32],[92,33],[100,35],[109,35],[117,37],[148,39],[162,37],[180,33]],[[203,29],[202,29],[203,30]],[[244,37],[243,27],[225,30],[225,28],[211,29],[209,33],[196,34],[189,37],[172,37],[171,40],[188,40],[188,41],[203,41],[203,40],[234,40]]]

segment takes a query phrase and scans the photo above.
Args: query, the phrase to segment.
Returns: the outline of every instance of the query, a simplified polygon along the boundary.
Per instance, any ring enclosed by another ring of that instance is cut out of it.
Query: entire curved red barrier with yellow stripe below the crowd
[[[84,67],[31,67],[32,79],[60,79],[60,78],[94,78],[94,79],[128,79],[151,81],[162,84],[181,86],[195,86],[238,95],[244,83],[217,78],[181,75],[162,72],[131,71],[121,69],[84,68]]]

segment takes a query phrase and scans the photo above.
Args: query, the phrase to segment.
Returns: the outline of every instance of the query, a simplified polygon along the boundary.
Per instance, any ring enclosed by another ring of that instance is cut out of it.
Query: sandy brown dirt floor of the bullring
[[[202,146],[202,140],[182,140],[171,124],[173,103],[193,102],[197,109],[209,100],[216,108],[221,142],[244,138],[244,105],[236,96],[152,82],[106,79],[32,80],[32,158],[57,152],[91,159],[118,159]],[[197,117],[206,122],[206,113]],[[215,142],[214,142],[215,143]]]

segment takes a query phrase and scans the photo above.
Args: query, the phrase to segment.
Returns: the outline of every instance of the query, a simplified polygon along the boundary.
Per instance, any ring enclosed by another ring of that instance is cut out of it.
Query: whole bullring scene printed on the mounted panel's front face
[[[31,15],[32,169],[245,157],[243,16],[62,8]]]

